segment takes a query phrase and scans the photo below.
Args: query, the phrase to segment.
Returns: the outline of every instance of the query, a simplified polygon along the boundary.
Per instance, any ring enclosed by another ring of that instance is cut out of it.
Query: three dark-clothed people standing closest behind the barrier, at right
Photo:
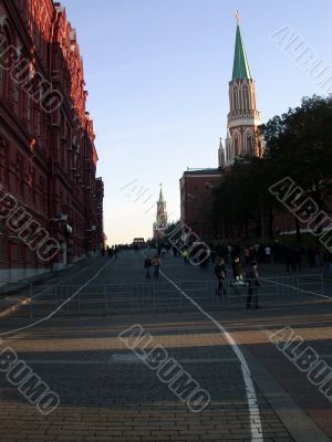
[[[260,282],[257,262],[252,261],[250,263],[250,266],[246,271],[245,281],[242,276],[242,264],[239,256],[234,257],[231,266],[234,276],[232,285],[235,286],[236,293],[239,293],[239,286],[247,285],[247,308],[260,308],[260,305],[258,304],[258,287],[260,286]],[[225,259],[222,256],[218,256],[216,261],[215,275],[218,282],[216,294],[218,296],[227,296],[225,283],[227,269],[225,264]]]

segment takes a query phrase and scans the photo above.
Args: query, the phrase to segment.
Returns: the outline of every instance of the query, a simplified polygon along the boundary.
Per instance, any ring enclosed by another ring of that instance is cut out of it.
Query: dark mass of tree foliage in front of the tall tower
[[[237,159],[215,190],[216,222],[242,225],[271,217],[281,207],[269,187],[286,177],[326,209],[332,194],[332,98],[304,97],[301,106],[262,125],[261,133],[263,157]]]

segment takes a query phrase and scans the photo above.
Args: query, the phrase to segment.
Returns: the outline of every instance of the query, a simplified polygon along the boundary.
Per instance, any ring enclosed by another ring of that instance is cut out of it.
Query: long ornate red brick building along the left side
[[[60,244],[42,260],[2,217],[1,281],[62,269],[102,244],[103,182],[86,96],[64,8],[0,0],[0,185]]]

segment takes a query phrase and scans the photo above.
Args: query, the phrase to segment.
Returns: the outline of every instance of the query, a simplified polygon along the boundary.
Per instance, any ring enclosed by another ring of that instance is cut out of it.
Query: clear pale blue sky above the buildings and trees
[[[331,0],[62,3],[77,30],[84,61],[110,244],[152,236],[159,182],[170,220],[177,220],[183,171],[217,167],[218,139],[226,136],[237,9],[263,122],[297,106],[302,96],[325,95],[271,34],[291,27],[303,48],[311,46],[332,66]]]

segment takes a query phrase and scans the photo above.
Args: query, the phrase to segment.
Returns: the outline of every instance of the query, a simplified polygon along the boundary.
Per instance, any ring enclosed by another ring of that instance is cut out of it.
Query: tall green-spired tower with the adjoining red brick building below
[[[231,81],[229,82],[229,114],[227,136],[218,146],[218,167],[187,168],[179,180],[180,221],[203,241],[224,238],[222,225],[212,220],[212,190],[218,188],[236,158],[263,154],[261,120],[256,104],[252,80],[237,12],[236,43]],[[160,204],[160,203],[159,203]]]

